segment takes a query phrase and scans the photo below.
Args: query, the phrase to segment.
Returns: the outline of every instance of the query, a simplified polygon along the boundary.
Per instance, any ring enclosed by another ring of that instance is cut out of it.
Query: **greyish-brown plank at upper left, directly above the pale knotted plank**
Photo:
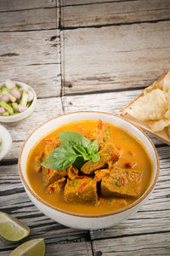
[[[0,15],[0,32],[58,28],[57,14],[56,8],[2,12]]]

